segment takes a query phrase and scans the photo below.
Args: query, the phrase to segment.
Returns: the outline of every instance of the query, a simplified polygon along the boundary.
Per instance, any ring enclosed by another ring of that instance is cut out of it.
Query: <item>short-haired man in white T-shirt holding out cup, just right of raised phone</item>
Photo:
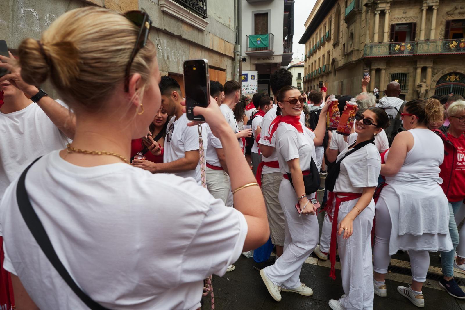
[[[239,131],[236,118],[234,117],[233,108],[239,102],[240,98],[240,84],[238,81],[227,81],[223,87],[225,93],[225,100],[219,106],[221,114],[226,118],[229,126],[233,128],[236,138],[246,138],[252,136],[252,129],[245,129]]]

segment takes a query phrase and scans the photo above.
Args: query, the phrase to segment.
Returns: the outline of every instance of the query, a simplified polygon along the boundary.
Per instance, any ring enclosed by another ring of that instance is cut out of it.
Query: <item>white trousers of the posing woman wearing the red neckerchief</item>
[[[299,212],[295,209],[297,195],[289,180],[281,181],[279,203],[285,218],[284,252],[276,259],[274,265],[266,267],[264,272],[272,283],[285,289],[295,289],[300,285],[302,265],[318,243],[318,219],[316,215],[299,217]]]

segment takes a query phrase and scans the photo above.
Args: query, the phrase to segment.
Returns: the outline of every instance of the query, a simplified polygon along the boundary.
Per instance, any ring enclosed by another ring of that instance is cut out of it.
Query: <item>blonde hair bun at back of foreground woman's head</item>
[[[79,74],[79,51],[69,41],[46,44],[27,38],[18,47],[18,54],[21,77],[31,85],[41,85],[54,70],[61,84],[69,87]]]

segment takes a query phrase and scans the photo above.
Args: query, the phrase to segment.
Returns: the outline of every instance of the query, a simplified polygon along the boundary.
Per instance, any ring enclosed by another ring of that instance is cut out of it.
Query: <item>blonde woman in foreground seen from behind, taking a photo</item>
[[[161,106],[150,24],[143,12],[83,7],[53,21],[40,44],[18,48],[24,81],[50,77],[76,131],[0,204],[17,309],[198,309],[203,280],[269,238],[260,188],[213,98],[194,114],[234,167],[234,208],[193,178],[129,164],[131,140],[147,134]]]

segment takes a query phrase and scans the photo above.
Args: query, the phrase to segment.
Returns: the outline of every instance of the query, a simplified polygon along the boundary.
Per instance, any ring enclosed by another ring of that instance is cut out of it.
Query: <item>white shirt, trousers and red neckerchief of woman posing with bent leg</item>
[[[299,158],[300,169],[309,171],[311,159],[315,157],[315,134],[299,122],[299,116],[279,116],[277,123],[276,153],[282,175],[290,173],[288,161]],[[272,126],[274,128],[274,126]],[[273,134],[273,129],[271,136]],[[286,175],[287,176],[287,175]],[[315,193],[307,196],[314,198]],[[284,211],[286,239],[284,252],[276,262],[264,269],[272,283],[285,288],[295,289],[301,285],[299,275],[302,264],[318,243],[318,218],[316,215],[302,215],[295,208],[297,194],[291,182],[283,178],[279,186],[279,203]],[[307,208],[312,208],[311,202]]]

